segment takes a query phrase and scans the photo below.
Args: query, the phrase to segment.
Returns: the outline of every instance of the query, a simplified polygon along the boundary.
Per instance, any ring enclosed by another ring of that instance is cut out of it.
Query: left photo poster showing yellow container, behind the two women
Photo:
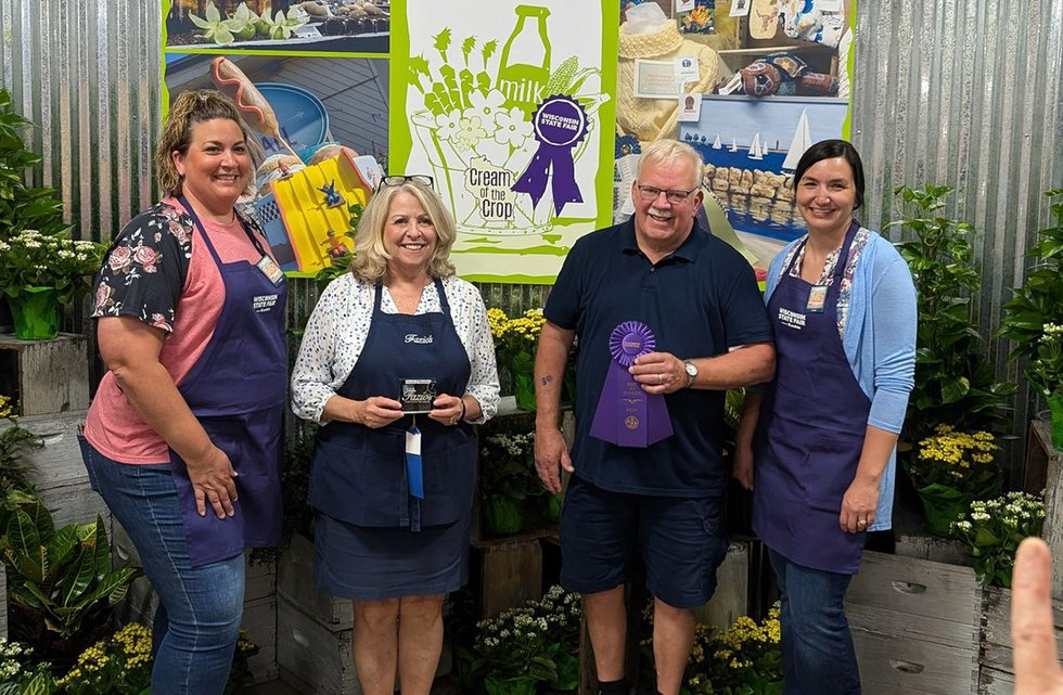
[[[180,92],[229,95],[262,145],[253,213],[289,274],[354,253],[354,223],[387,151],[385,4],[163,1],[164,105]],[[370,11],[371,10],[371,11]]]

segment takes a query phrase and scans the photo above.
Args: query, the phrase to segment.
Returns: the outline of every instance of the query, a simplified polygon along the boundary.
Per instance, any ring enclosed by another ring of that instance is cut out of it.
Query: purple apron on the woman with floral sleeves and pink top
[[[188,467],[170,449],[189,555],[197,567],[280,540],[287,283],[274,285],[246,260],[221,262],[192,206],[183,196],[178,200],[195,222],[226,288],[214,335],[178,390],[239,474],[235,514],[219,519],[208,502],[206,516],[200,516]],[[244,231],[266,256],[259,240],[246,227]]]

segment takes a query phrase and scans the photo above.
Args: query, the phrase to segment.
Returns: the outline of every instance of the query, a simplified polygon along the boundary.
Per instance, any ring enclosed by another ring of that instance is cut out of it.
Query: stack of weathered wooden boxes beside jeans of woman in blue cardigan
[[[974,694],[981,609],[970,567],[865,552],[846,599],[863,693]]]

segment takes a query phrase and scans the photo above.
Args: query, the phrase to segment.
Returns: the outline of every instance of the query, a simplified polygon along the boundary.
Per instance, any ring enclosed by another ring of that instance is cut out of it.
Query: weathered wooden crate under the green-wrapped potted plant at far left
[[[86,336],[61,333],[51,340],[20,340],[0,335],[0,394],[16,398],[23,415],[88,409]]]

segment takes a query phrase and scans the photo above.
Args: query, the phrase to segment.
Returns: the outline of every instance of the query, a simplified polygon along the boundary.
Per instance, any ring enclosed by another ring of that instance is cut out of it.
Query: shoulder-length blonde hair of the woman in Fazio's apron
[[[383,282],[387,278],[387,261],[390,256],[384,249],[384,226],[392,201],[401,192],[409,193],[421,203],[436,230],[436,246],[428,259],[428,274],[433,278],[447,278],[454,274],[450,262],[450,247],[453,246],[458,230],[450,211],[431,188],[415,181],[401,185],[385,185],[370,198],[358,229],[355,232],[355,259],[350,272],[366,282]]]

